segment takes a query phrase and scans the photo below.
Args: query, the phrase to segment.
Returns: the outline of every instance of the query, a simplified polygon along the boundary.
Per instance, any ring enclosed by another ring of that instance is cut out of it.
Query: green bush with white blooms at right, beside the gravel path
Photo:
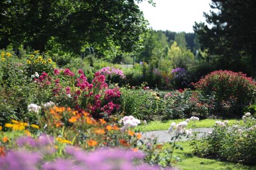
[[[244,123],[232,126],[227,120],[217,121],[212,133],[191,142],[194,153],[201,157],[255,164],[256,120],[250,113],[246,113],[243,120]]]

